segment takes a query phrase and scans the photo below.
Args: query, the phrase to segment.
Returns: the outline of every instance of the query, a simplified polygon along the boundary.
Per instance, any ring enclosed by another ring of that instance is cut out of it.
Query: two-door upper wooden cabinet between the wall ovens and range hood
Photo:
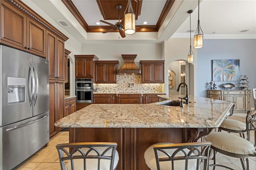
[[[119,61],[95,61],[95,83],[116,83]]]

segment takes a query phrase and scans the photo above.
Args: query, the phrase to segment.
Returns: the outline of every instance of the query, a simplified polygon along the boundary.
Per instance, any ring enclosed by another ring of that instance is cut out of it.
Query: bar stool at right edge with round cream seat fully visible
[[[248,111],[246,116],[246,132],[247,135],[250,136],[250,131],[256,132],[256,125],[255,125],[255,117],[256,111],[251,113],[252,111]],[[247,136],[247,139],[250,137]],[[234,158],[239,158],[242,164],[243,170],[250,170],[249,169],[249,160],[250,156],[256,156],[256,149],[255,149],[255,140],[254,138],[254,145],[235,134],[223,133],[223,132],[211,132],[207,136],[205,136],[205,140],[212,142],[211,150],[214,150],[214,164],[210,166],[221,166],[224,168],[228,168],[230,170],[234,170],[228,166],[216,164],[216,152],[222,153],[227,156],[231,156]],[[246,162],[245,162],[245,160]],[[215,167],[214,167],[215,169]]]

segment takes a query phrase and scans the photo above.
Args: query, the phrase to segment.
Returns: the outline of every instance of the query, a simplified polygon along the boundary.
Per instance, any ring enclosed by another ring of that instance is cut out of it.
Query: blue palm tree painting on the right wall
[[[238,81],[239,59],[212,60],[212,81]]]

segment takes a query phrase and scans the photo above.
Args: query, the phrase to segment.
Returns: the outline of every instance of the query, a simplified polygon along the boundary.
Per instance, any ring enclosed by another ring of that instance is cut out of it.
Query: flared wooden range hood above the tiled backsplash
[[[140,69],[134,63],[137,54],[121,54],[124,59],[124,64],[118,70],[118,74],[141,74]]]

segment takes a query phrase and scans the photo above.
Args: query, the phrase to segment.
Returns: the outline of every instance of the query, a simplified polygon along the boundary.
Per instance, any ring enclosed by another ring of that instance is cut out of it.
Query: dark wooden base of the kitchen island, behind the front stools
[[[144,152],[159,142],[182,143],[183,128],[70,128],[70,142],[116,142],[117,170],[148,170]]]

